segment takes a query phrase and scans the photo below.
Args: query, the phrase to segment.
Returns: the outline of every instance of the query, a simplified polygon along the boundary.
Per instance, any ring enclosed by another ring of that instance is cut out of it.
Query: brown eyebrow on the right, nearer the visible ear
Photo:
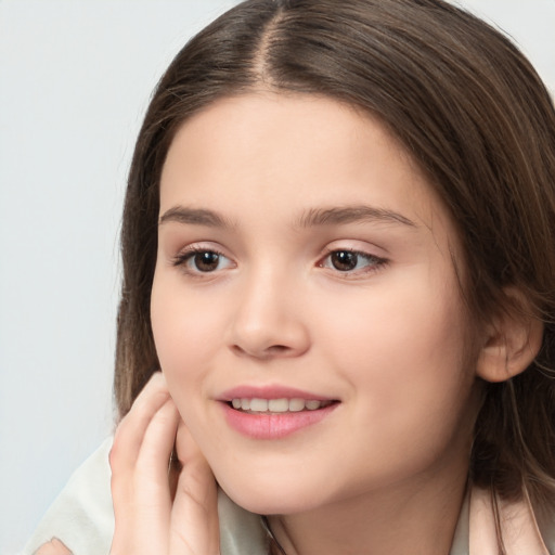
[[[418,225],[393,210],[374,206],[345,206],[334,208],[312,208],[304,214],[298,225],[309,228],[315,225],[338,225],[343,223],[384,222],[417,228]]]

